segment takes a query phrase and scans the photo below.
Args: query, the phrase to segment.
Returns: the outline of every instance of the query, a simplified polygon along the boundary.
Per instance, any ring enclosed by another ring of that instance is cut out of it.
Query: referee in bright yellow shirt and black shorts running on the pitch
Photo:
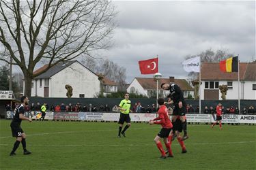
[[[120,118],[119,118],[119,131],[118,131],[118,137],[121,137],[121,134],[126,137],[126,130],[130,127],[130,100],[129,100],[129,94],[126,93],[124,96],[124,100],[122,100],[119,104],[118,109],[120,110]],[[122,131],[124,122],[126,122],[126,126],[124,127],[124,130]]]

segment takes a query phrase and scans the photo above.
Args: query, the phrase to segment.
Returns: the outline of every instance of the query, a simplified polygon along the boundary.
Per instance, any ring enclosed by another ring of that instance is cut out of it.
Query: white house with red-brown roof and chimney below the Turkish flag
[[[194,97],[194,88],[190,86],[190,84],[184,80],[184,79],[174,79],[174,77],[169,78],[161,78],[158,82],[159,84],[159,90],[160,90],[160,97],[167,97],[169,95],[168,90],[162,90],[160,88],[160,85],[162,83],[170,83],[174,82],[175,84],[178,84],[182,91],[184,92],[184,97],[187,98],[188,95],[191,95],[191,97]],[[131,84],[127,88],[127,92],[131,93],[137,93],[141,95],[145,95],[147,97],[152,97],[156,95],[156,82],[154,81],[154,78],[134,78],[132,80]]]

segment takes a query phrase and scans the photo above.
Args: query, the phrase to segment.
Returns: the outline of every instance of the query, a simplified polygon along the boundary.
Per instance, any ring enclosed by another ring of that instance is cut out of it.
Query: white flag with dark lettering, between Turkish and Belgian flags
[[[200,72],[200,56],[189,58],[182,63],[183,68],[187,72]]]

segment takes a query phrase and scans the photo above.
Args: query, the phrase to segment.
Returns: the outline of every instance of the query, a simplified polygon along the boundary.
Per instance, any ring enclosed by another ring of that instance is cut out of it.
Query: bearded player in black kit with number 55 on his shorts
[[[26,96],[21,97],[20,99],[21,104],[17,105],[16,108],[14,109],[15,116],[10,124],[11,129],[12,129],[12,137],[16,137],[16,141],[14,143],[14,147],[12,148],[12,152],[10,153],[10,156],[14,156],[15,151],[17,150],[18,146],[20,145],[20,142],[23,145],[23,154],[31,154],[26,148],[26,135],[21,129],[20,124],[22,120],[28,120],[29,122],[32,122],[30,118],[26,118],[23,116],[24,114],[24,107],[25,105],[29,104],[29,99]]]

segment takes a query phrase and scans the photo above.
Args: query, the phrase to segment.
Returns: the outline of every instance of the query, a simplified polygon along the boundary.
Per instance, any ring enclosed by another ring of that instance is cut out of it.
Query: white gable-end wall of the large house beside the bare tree
[[[85,94],[85,98],[95,97],[100,92],[98,76],[76,62],[53,75],[50,80],[49,97],[66,97],[65,85],[73,88],[72,97]]]

